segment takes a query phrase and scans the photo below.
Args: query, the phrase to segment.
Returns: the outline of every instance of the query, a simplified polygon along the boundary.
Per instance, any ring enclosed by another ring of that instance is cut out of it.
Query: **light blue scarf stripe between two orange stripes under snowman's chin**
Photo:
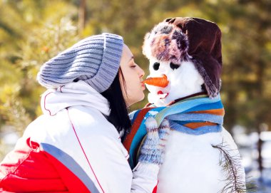
[[[210,115],[210,114],[198,114],[198,113],[178,113],[174,115],[169,115],[166,117],[169,120],[183,120],[183,121],[190,121],[190,122],[195,122],[195,121],[201,121],[201,122],[215,122],[218,124],[223,124],[223,116],[220,115]]]

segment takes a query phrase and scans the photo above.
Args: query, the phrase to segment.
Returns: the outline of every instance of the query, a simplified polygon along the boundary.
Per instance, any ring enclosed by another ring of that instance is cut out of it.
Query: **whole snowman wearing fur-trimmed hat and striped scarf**
[[[131,113],[133,127],[123,142],[131,167],[138,162],[145,120],[168,120],[158,193],[245,192],[239,151],[223,127],[220,28],[198,18],[165,19],[145,35],[143,54],[150,61],[150,103]]]

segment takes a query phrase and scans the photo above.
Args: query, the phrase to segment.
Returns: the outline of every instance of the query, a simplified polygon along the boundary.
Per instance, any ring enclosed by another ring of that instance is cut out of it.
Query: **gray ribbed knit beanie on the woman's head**
[[[90,36],[44,63],[37,80],[46,88],[83,80],[102,93],[118,73],[122,51],[121,36],[111,33]]]

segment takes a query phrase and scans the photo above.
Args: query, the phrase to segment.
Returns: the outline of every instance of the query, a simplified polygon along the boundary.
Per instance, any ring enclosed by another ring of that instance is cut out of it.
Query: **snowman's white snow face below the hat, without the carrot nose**
[[[150,60],[149,70],[148,78],[166,78],[168,80],[168,85],[165,87],[155,85],[155,83],[154,85],[146,84],[150,91],[148,100],[156,106],[163,106],[175,99],[203,91],[204,80],[190,61],[183,61],[178,65],[153,58]],[[163,80],[158,79],[158,81]]]

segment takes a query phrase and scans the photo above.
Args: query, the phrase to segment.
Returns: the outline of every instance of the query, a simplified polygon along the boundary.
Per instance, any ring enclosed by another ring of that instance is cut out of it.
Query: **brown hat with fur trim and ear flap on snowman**
[[[145,35],[143,54],[180,65],[191,61],[203,77],[210,98],[220,91],[222,71],[221,31],[204,19],[165,19]]]

